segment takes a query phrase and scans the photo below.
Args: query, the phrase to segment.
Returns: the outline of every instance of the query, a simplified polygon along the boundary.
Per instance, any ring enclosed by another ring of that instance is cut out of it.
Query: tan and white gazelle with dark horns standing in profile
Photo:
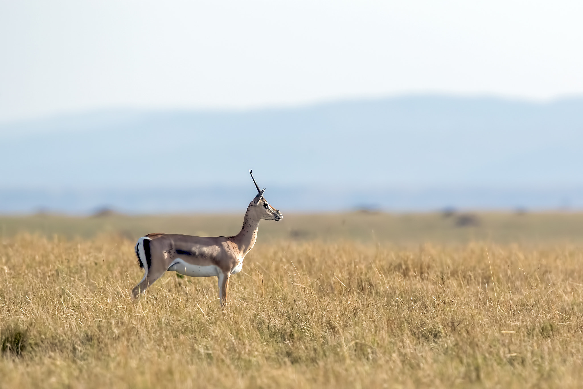
[[[189,277],[218,277],[219,299],[223,307],[227,302],[229,279],[243,267],[243,259],[255,245],[261,219],[279,220],[283,215],[273,208],[263,196],[265,188],[259,185],[249,170],[257,196],[245,212],[243,227],[235,236],[191,236],[178,234],[147,234],[138,239],[136,255],[138,264],[144,269],[142,281],[133,290],[138,297],[164,272],[174,271]]]

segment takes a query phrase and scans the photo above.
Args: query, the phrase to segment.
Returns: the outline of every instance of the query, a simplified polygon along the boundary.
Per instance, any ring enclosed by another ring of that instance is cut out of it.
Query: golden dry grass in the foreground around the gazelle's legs
[[[577,387],[583,249],[259,244],[137,302],[134,242],[0,244],[0,387]],[[487,253],[489,255],[487,255]]]

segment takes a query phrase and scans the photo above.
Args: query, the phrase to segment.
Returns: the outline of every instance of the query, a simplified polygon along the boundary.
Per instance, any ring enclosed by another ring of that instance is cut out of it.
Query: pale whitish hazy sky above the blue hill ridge
[[[0,0],[0,121],[583,94],[583,2]]]

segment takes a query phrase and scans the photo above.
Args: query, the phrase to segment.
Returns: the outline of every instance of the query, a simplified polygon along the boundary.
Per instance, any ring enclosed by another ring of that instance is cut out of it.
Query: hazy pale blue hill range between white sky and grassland
[[[582,148],[583,99],[64,115],[0,125],[0,211],[236,209],[250,167],[295,209],[580,206]]]

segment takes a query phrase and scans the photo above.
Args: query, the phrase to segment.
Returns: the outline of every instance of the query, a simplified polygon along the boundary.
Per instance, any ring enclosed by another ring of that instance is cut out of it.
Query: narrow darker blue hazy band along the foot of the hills
[[[159,190],[6,190],[0,188],[0,215],[243,215],[253,195],[248,188],[185,188],[179,194]],[[267,192],[266,192],[267,193]],[[546,213],[583,211],[583,187],[424,188],[422,190],[325,191],[321,188],[272,188],[266,198],[293,214],[383,212]],[[371,201],[363,201],[368,199]]]

